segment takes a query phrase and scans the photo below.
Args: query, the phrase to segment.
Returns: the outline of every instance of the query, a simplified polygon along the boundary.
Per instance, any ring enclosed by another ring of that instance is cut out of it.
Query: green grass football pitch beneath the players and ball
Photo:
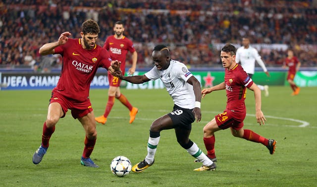
[[[181,148],[173,130],[166,130],[161,132],[155,164],[124,178],[111,173],[110,162],[118,155],[128,157],[132,164],[144,159],[152,121],[173,107],[164,89],[121,89],[139,113],[129,124],[128,109],[116,100],[106,125],[97,124],[98,139],[91,158],[100,166],[98,169],[80,165],[85,135],[70,111],[57,123],[42,162],[34,165],[32,155],[41,143],[51,90],[0,91],[0,186],[316,186],[317,88],[302,88],[297,96],[290,95],[289,87],[270,87],[269,91],[268,97],[262,97],[267,121],[259,126],[254,117],[254,95],[248,90],[244,128],[277,140],[274,155],[260,143],[234,138],[230,130],[218,131],[217,169],[194,172],[201,164]],[[91,90],[90,98],[95,115],[103,114],[107,90]],[[203,127],[225,105],[225,91],[211,93],[202,100],[202,121],[193,124],[190,138],[205,153]]]

